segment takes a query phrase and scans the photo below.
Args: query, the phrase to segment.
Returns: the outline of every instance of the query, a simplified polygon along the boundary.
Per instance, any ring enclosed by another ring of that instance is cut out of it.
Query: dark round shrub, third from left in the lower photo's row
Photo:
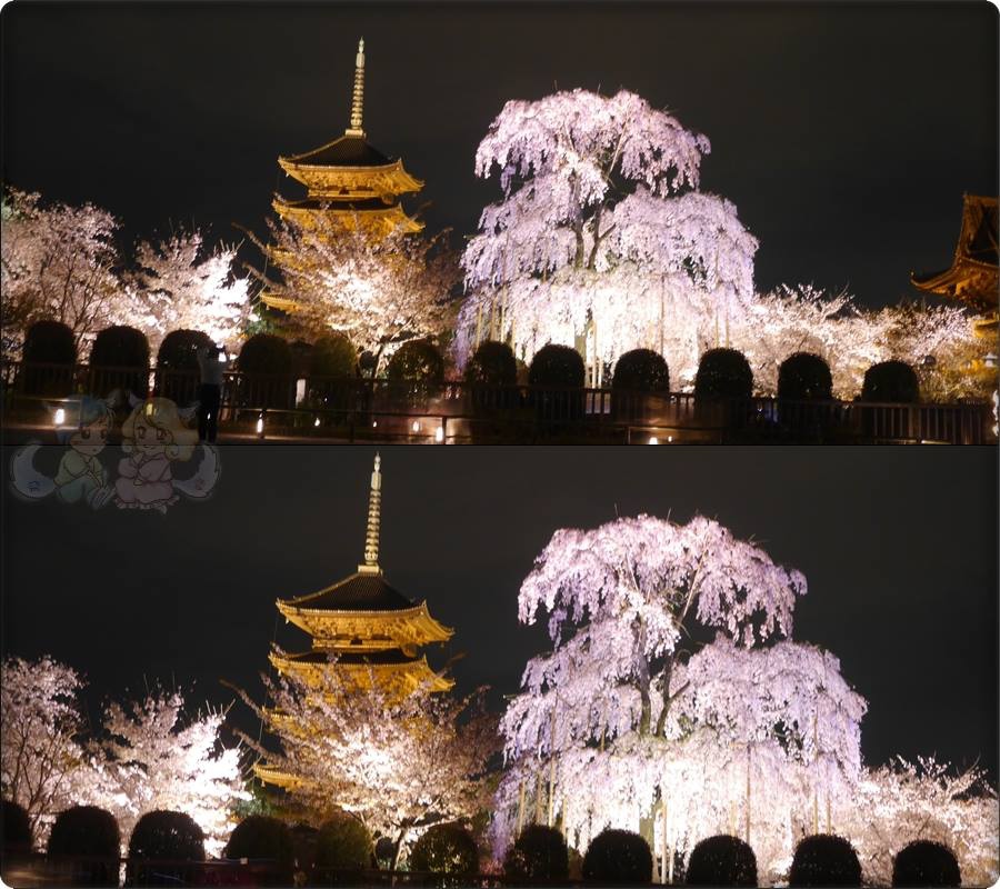
[[[143,858],[179,863],[177,867],[143,865]],[[126,880],[131,886],[177,886],[190,879],[190,869],[180,862],[204,861],[204,833],[183,812],[163,809],[147,812],[132,829],[129,859]]]

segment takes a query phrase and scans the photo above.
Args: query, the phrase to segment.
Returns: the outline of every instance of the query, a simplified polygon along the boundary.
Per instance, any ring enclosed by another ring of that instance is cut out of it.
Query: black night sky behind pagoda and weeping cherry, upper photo
[[[619,87],[712,142],[702,188],[758,237],[757,287],[879,306],[950,264],[962,192],[998,188],[998,13],[987,2],[10,3],[2,178],[92,201],[129,241],[258,232],[278,154],[348,123],[366,39],[370,141],[427,181],[430,230],[474,231],[473,156],[508,99]],[[252,252],[244,248],[246,259]]]

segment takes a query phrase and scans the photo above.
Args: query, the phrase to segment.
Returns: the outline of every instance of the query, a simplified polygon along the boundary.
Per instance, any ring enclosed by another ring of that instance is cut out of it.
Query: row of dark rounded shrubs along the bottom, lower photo
[[[27,812],[13,802],[2,807],[3,853],[31,849]],[[320,871],[361,871],[373,863],[377,847],[368,829],[356,818],[339,813],[312,833],[312,866]],[[380,851],[393,858],[394,847]],[[378,847],[382,849],[382,842]],[[48,853],[80,859],[74,885],[117,885],[120,835],[114,817],[93,806],[76,806],[61,812],[49,836]],[[292,831],[277,818],[250,816],[230,836],[224,852],[230,859],[271,862],[268,883],[290,885],[296,868]],[[563,882],[570,877],[571,850],[556,828],[530,825],[504,857],[503,872],[513,883]],[[99,859],[104,858],[107,861]],[[127,885],[164,885],[183,879],[169,866],[143,865],[143,859],[203,861],[204,836],[187,815],[148,812],[139,819],[129,839]],[[302,862],[300,861],[301,866]],[[438,825],[424,831],[410,851],[410,869],[446,876],[476,873],[479,855],[472,836],[460,825]],[[649,883],[653,859],[647,841],[628,830],[608,829],[590,842],[581,863],[589,883]],[[860,886],[861,866],[851,843],[842,837],[816,835],[796,847],[789,870],[791,886]],[[757,886],[757,859],[743,840],[730,836],[709,837],[691,851],[684,881],[688,886]],[[902,849],[893,863],[893,886],[961,885],[954,855],[946,846],[920,840]]]

